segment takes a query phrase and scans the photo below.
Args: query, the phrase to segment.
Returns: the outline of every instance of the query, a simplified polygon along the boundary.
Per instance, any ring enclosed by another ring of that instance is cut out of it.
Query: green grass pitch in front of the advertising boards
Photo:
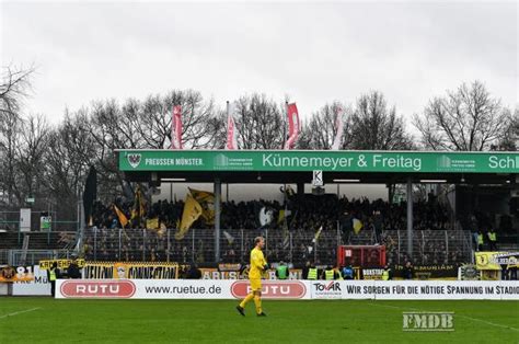
[[[519,301],[0,298],[0,343],[519,343]],[[453,311],[453,332],[404,332],[403,311]]]

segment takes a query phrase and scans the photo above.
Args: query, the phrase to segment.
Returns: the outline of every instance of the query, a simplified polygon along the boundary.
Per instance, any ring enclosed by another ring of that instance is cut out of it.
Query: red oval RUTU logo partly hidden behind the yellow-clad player
[[[242,299],[251,293],[247,280],[238,280],[231,285],[231,294]],[[300,280],[264,280],[262,283],[262,298],[266,299],[304,299],[309,298],[307,285]]]

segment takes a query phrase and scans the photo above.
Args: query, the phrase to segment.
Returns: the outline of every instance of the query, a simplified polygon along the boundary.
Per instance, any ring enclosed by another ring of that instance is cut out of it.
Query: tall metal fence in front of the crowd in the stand
[[[182,240],[174,238],[175,229],[97,229],[83,232],[80,255],[92,261],[174,261],[215,262],[215,233],[210,229],[192,229]],[[342,233],[338,229],[323,230],[318,240],[308,231],[227,229],[220,236],[220,261],[246,262],[254,238],[265,238],[265,254],[270,262],[280,260],[295,264],[314,261],[334,264],[341,244],[385,244],[388,261],[403,264],[453,264],[471,261],[470,233],[462,230],[417,230],[413,237],[413,256],[406,252],[407,232],[390,230],[376,233]]]

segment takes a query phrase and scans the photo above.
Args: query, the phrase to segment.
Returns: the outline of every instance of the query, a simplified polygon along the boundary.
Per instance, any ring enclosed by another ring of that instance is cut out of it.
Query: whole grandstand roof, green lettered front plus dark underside
[[[516,184],[518,152],[372,150],[150,150],[117,149],[118,167],[130,181],[223,183]]]

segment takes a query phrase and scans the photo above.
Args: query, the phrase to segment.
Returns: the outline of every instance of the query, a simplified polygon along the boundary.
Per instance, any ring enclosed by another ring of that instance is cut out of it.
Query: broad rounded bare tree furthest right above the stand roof
[[[432,99],[422,116],[414,116],[414,125],[426,148],[482,151],[504,138],[509,119],[509,111],[500,101],[482,82],[474,81]]]

